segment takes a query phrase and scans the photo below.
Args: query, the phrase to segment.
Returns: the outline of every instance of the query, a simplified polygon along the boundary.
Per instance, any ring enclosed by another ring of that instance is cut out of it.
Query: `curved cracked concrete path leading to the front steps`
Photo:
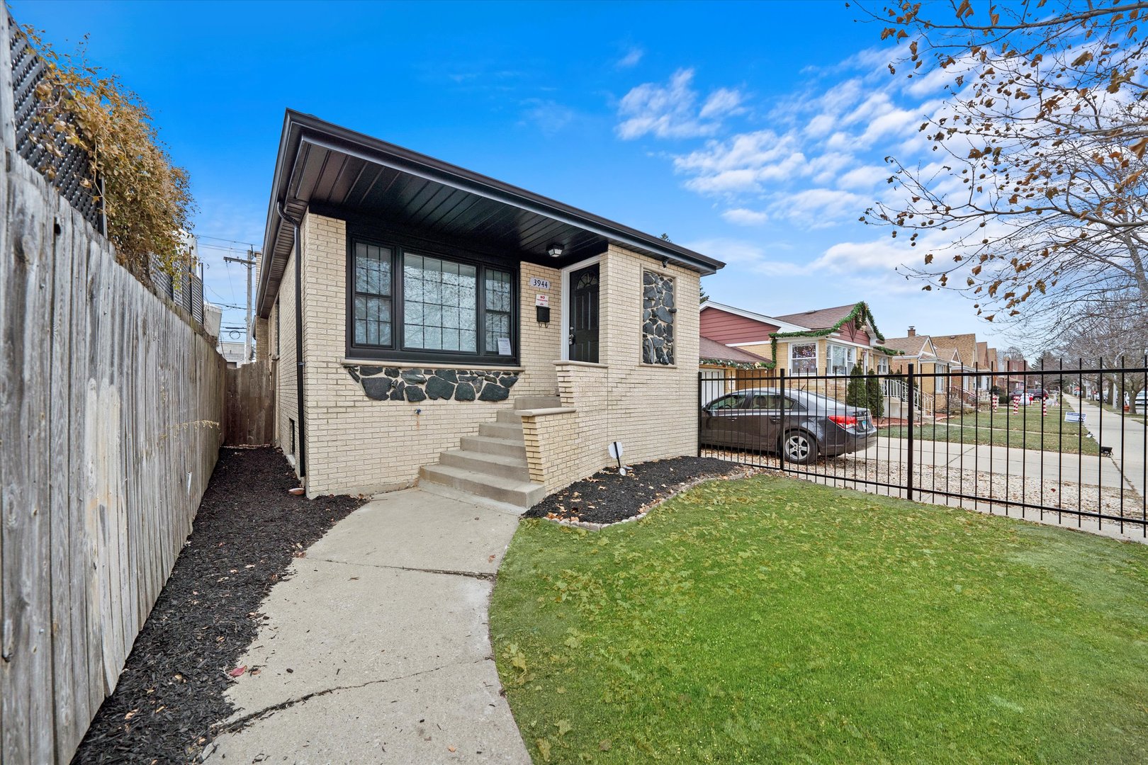
[[[261,607],[211,763],[529,763],[488,632],[518,516],[418,489],[336,524]]]

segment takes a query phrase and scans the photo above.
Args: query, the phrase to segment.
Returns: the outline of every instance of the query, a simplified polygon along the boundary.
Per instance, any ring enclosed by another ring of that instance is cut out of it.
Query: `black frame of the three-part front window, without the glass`
[[[390,250],[390,344],[360,345],[355,343],[355,244],[373,244]],[[436,351],[411,349],[405,343],[404,317],[404,282],[405,271],[403,257],[406,252],[440,258],[451,263],[475,266],[475,351]],[[486,343],[486,278],[487,270],[503,271],[510,274],[511,282],[511,354],[498,356],[483,350]],[[463,367],[518,366],[519,336],[521,325],[520,307],[520,266],[518,261],[502,260],[491,256],[474,252],[452,244],[432,243],[395,232],[380,231],[366,226],[347,226],[347,263],[346,263],[346,306],[344,336],[347,358],[372,361],[396,361],[400,364],[457,364]]]

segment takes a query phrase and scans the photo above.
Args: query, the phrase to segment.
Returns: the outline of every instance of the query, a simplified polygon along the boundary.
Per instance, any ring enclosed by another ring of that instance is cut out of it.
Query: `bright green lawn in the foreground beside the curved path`
[[[523,521],[498,671],[535,762],[1143,763],[1148,547],[760,476]]]

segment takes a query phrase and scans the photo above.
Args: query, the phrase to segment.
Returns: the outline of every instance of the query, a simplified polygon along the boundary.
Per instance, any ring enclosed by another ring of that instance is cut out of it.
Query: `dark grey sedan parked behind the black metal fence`
[[[701,443],[752,452],[779,452],[786,462],[860,452],[876,443],[869,409],[801,390],[752,388],[701,407]]]

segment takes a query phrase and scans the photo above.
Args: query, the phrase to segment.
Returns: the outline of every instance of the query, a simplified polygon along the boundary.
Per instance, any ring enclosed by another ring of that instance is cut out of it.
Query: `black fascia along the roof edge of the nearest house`
[[[666,258],[703,275],[712,274],[726,265],[721,260],[591,212],[292,109],[287,110],[284,118],[284,132],[276,159],[263,242],[263,251],[266,253],[272,252],[279,226],[282,225],[276,205],[286,202],[287,185],[290,182],[294,161],[303,141],[569,224],[599,234],[610,241],[649,252],[653,257]],[[261,274],[258,305],[262,305],[265,298],[269,276],[270,271]]]

